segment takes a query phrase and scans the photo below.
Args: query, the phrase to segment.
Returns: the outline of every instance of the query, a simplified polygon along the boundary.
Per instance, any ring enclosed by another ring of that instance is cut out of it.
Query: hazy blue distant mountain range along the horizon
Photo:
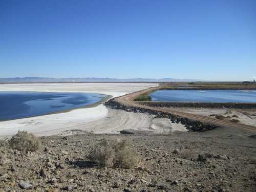
[[[200,81],[196,79],[151,79],[151,78],[132,78],[132,79],[116,79],[116,78],[48,78],[48,77],[14,77],[0,78],[0,83],[42,83],[42,82],[187,82]]]

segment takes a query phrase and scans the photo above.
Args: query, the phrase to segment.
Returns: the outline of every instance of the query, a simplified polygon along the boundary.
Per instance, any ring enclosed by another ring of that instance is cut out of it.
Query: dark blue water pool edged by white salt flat
[[[96,93],[0,92],[0,120],[72,110],[104,97]]]

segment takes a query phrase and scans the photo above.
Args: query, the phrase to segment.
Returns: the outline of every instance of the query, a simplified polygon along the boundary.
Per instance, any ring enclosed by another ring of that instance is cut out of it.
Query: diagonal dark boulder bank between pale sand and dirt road
[[[218,125],[215,125],[215,124],[195,121],[189,118],[180,117],[170,113],[159,112],[157,110],[150,110],[146,108],[140,108],[137,106],[126,106],[122,103],[115,101],[115,99],[106,101],[104,105],[109,106],[112,109],[120,109],[128,112],[135,112],[135,113],[148,113],[151,115],[156,115],[157,117],[169,118],[173,123],[181,123],[185,125],[188,131],[193,131],[193,132],[203,132],[203,131],[212,130],[218,127]]]

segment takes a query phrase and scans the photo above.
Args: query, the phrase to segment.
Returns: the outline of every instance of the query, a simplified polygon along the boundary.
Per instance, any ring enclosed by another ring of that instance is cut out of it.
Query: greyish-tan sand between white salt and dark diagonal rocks
[[[59,132],[59,135],[82,134],[84,131],[95,134],[118,134],[122,130],[152,132],[154,134],[172,131],[187,131],[184,125],[171,123],[166,118],[155,118],[145,113],[133,113],[123,110],[109,109],[108,116],[69,127],[69,130]]]

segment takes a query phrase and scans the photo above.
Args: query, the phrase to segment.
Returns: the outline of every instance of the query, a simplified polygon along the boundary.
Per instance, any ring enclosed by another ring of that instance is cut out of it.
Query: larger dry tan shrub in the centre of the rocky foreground
[[[107,167],[133,168],[138,166],[140,157],[126,140],[103,139],[94,146],[91,160]]]

